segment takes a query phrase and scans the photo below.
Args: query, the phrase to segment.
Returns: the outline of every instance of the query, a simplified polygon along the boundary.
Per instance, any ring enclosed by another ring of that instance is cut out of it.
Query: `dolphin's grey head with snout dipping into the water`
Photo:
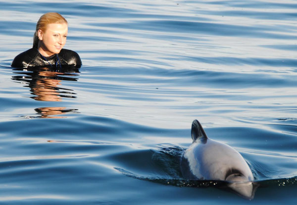
[[[253,199],[257,188],[257,185],[251,180],[253,180],[253,177],[251,179],[239,171],[226,176],[226,181],[228,182],[227,186],[236,194],[249,200]]]

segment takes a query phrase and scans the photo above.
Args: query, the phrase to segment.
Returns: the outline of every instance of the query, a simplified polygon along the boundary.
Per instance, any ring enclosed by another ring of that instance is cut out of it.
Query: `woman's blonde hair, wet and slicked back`
[[[47,30],[48,24],[55,24],[55,23],[68,24],[67,20],[59,13],[49,12],[49,13],[45,13],[40,17],[40,19],[36,24],[36,31],[33,37],[33,47],[38,48],[38,42],[39,42],[38,30],[41,29],[43,32],[45,32]]]

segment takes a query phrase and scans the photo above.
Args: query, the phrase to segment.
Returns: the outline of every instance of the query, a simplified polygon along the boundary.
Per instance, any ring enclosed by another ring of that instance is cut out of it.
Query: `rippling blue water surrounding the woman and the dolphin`
[[[0,204],[295,204],[297,1],[0,0]],[[79,70],[13,69],[66,17]],[[198,119],[259,183],[182,178]]]

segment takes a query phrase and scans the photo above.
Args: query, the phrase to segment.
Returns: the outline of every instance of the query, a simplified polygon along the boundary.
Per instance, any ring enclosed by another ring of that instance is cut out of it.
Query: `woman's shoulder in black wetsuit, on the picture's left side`
[[[15,56],[11,63],[11,66],[17,68],[29,67],[37,55],[38,50],[36,48],[30,48],[29,50],[26,50]]]

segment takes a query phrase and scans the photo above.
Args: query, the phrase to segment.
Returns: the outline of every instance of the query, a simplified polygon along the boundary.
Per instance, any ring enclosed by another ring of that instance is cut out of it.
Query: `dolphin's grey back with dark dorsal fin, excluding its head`
[[[241,173],[253,180],[247,162],[227,144],[207,137],[201,124],[192,123],[193,143],[181,158],[183,176],[191,179],[226,180],[229,173]]]

